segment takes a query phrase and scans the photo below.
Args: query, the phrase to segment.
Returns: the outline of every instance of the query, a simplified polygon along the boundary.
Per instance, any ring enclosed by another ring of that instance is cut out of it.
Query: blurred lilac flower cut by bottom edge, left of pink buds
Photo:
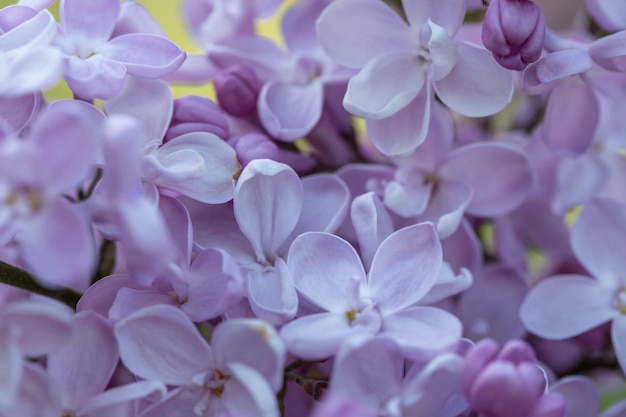
[[[354,340],[336,357],[329,394],[382,417],[456,416],[467,409],[462,366],[460,356],[444,353],[405,374],[402,351],[391,340]]]

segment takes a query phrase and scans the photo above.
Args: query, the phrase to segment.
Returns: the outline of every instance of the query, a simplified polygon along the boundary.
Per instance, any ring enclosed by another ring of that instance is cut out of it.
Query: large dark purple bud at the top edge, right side
[[[505,68],[521,71],[541,56],[546,23],[531,0],[492,0],[483,22],[483,44]]]

